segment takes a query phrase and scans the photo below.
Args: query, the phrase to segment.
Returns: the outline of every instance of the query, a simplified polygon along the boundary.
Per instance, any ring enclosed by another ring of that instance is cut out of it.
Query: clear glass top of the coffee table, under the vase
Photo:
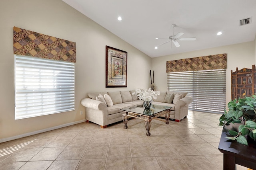
[[[152,104],[150,109],[145,109],[143,107],[143,105],[141,104],[138,106],[125,107],[120,110],[150,116],[150,115],[154,115],[156,113],[159,113],[161,111],[165,111],[165,110],[171,109],[171,108],[172,107],[169,107],[169,106],[161,106],[161,105]]]

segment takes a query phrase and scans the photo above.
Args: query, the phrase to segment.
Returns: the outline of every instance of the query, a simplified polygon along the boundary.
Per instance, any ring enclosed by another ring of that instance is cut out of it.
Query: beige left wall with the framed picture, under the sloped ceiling
[[[80,100],[87,92],[149,88],[151,58],[61,0],[1,0],[0,6],[0,141],[83,121]],[[76,42],[75,111],[14,120],[14,26]],[[128,52],[127,88],[105,88],[106,45]]]

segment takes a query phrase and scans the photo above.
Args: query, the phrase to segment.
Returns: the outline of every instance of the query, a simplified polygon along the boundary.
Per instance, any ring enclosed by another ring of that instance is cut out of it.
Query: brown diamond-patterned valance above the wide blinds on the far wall
[[[166,72],[216,70],[227,68],[227,54],[208,55],[166,62]]]

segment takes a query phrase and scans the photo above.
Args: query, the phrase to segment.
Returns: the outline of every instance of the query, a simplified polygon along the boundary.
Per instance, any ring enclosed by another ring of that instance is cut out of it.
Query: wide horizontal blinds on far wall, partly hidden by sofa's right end
[[[189,110],[223,113],[226,106],[226,69],[168,72],[167,88],[188,92],[193,98]]]

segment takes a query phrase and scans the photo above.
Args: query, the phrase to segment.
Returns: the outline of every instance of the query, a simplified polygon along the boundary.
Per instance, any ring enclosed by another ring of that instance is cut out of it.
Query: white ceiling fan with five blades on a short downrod
[[[180,40],[180,41],[195,41],[195,40],[196,40],[195,37],[191,37],[191,38],[180,38],[180,36],[182,36],[182,35],[184,34],[184,33],[181,33],[181,32],[179,32],[179,33],[177,33],[176,35],[174,35],[174,28],[176,27],[176,25],[175,25],[175,24],[172,24],[172,27],[173,27],[173,35],[170,35],[169,38],[156,38],[156,39],[168,39],[167,42],[162,43],[162,44],[160,44],[160,45],[164,45],[164,44],[166,44],[166,43],[168,43],[168,42],[171,41],[171,42],[174,43],[174,45],[175,45],[176,47],[180,47],[180,44],[178,43],[177,40]],[[155,49],[158,49],[158,47],[159,47],[160,45],[156,46]]]

